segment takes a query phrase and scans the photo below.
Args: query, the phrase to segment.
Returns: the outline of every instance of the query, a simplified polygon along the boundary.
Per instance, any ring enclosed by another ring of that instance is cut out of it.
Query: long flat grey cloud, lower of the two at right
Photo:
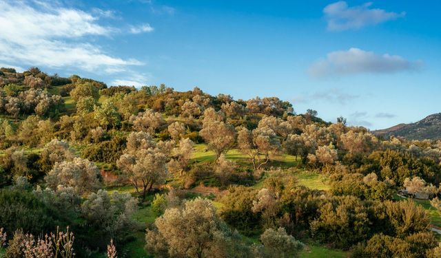
[[[421,61],[408,61],[401,56],[375,54],[352,47],[346,51],[336,51],[309,67],[314,77],[345,76],[351,74],[389,74],[401,71],[415,71],[422,66]]]

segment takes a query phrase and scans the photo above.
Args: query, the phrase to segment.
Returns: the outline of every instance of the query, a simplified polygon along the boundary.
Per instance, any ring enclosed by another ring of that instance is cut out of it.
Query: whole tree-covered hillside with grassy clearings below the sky
[[[440,257],[441,142],[0,70],[0,257]]]

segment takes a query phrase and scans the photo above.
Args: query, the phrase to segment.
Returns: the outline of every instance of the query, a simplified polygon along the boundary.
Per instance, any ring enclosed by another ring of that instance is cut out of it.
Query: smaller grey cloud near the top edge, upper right
[[[405,12],[387,12],[382,9],[370,8],[371,5],[372,2],[369,2],[361,6],[349,7],[345,1],[329,4],[323,9],[328,30],[360,29],[367,25],[376,25],[406,15]]]

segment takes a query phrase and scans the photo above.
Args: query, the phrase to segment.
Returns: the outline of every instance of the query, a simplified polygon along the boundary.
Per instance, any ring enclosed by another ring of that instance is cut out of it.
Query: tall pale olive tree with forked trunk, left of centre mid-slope
[[[116,164],[123,176],[135,187],[143,198],[153,184],[167,177],[167,156],[154,142],[150,133],[132,132],[127,137],[127,148]]]

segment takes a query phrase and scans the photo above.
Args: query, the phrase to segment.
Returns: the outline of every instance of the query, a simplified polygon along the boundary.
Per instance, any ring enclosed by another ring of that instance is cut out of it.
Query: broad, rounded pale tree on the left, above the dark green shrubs
[[[57,189],[59,185],[72,186],[79,194],[101,188],[101,174],[98,167],[82,158],[55,163],[54,169],[45,176],[45,181],[51,189]]]

